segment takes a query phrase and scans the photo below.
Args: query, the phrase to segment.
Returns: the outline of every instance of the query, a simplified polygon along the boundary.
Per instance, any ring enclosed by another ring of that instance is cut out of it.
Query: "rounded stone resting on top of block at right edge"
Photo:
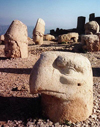
[[[85,34],[95,34],[99,32],[99,24],[91,21],[85,24]]]

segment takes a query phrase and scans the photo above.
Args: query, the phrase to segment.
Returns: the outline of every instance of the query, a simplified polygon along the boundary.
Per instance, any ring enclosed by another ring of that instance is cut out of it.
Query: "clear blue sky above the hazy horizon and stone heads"
[[[15,19],[34,26],[38,18],[46,28],[76,28],[77,17],[100,16],[100,0],[0,0],[0,25],[10,25]]]

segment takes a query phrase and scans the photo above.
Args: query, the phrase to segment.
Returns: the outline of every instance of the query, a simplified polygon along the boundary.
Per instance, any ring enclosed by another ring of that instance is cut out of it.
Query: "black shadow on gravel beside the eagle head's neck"
[[[40,97],[19,98],[0,96],[0,121],[41,118]]]

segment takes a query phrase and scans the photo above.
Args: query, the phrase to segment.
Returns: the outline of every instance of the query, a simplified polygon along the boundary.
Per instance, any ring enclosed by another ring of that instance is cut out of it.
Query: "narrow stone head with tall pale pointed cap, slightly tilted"
[[[38,19],[36,26],[33,30],[33,41],[35,44],[43,44],[43,36],[45,32],[45,22],[43,19]]]

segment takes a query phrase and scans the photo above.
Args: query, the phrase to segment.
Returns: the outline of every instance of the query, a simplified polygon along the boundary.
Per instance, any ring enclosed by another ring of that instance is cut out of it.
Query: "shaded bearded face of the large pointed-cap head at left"
[[[8,40],[5,41],[5,56],[8,58],[18,58],[21,57],[20,48],[16,41]]]

